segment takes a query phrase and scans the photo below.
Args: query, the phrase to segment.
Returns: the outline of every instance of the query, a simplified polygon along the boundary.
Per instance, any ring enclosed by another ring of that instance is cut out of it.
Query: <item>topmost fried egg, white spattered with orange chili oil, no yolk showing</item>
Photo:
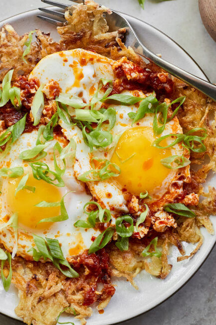
[[[113,60],[81,48],[56,52],[43,57],[29,74],[40,84],[59,83],[60,92],[79,96],[88,103],[100,78],[113,79]]]

